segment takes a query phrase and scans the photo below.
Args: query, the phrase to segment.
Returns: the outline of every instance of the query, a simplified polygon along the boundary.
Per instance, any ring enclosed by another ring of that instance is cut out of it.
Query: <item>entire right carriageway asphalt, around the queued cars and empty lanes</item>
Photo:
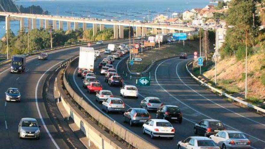
[[[101,58],[103,57],[104,56]],[[95,65],[100,61],[101,59],[98,59]],[[120,96],[120,88],[108,86],[107,83],[104,82],[104,76],[100,76],[99,70],[95,68],[95,73],[98,80],[103,85],[103,89],[111,90],[114,97],[119,97],[125,102],[127,108],[139,107],[140,101],[148,96],[158,97],[164,104],[179,106],[184,119],[182,124],[173,123],[173,127],[176,129],[176,135],[173,140],[168,140],[167,138],[151,139],[149,135],[142,135],[141,126],[131,127],[129,124],[123,123],[121,113],[110,113],[107,115],[136,135],[139,135],[162,149],[168,147],[176,148],[178,141],[189,136],[194,136],[193,126],[195,123],[198,123],[202,119],[212,118],[221,120],[225,124],[227,130],[239,130],[244,132],[251,140],[252,148],[263,149],[265,147],[264,117],[237,107],[205,90],[191,79],[186,72],[185,65],[187,62],[187,60],[180,60],[179,58],[158,62],[151,70],[151,85],[149,87],[137,86],[141,94],[139,99],[122,98]],[[125,63],[117,60],[114,62],[114,66],[118,73],[121,73],[122,70],[120,67],[125,67],[124,65]],[[76,76],[77,63],[76,67],[70,69],[71,75],[68,76],[67,79],[72,87],[81,96],[83,95],[87,102],[100,110],[101,104],[95,101],[95,95],[89,95],[87,90],[82,87],[82,79]],[[135,85],[135,80],[125,78],[124,81],[127,85]],[[152,118],[155,118],[155,112],[149,113],[151,113]]]

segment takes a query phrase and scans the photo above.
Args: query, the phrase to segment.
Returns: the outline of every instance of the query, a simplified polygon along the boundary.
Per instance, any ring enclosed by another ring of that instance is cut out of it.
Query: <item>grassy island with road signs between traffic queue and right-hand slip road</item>
[[[187,41],[185,42],[185,47],[183,47],[183,42],[176,42],[163,47],[161,46],[161,48],[153,48],[152,50],[148,48],[148,51],[136,56],[142,58],[141,62],[134,61],[133,66],[128,66],[132,72],[143,72],[153,61],[179,56],[181,52],[192,54],[195,50],[198,51],[198,48],[199,41]],[[139,52],[140,51],[141,50],[139,50]]]

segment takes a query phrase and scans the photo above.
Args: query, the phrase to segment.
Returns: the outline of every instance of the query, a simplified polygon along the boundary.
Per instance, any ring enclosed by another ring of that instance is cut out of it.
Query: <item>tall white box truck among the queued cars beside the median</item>
[[[80,47],[78,68],[94,70],[94,48]]]

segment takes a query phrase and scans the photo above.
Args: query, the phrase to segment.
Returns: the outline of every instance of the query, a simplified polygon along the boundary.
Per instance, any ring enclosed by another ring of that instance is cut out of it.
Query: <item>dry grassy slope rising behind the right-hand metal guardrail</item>
[[[243,100],[245,97],[245,60],[237,61],[235,57],[230,57],[218,62],[216,85],[214,67],[213,62],[203,66],[201,76],[198,67],[194,67],[192,71],[195,76],[209,85]],[[265,54],[263,52],[248,57],[247,76],[248,98],[244,101],[265,109],[265,105],[262,104],[265,101]]]

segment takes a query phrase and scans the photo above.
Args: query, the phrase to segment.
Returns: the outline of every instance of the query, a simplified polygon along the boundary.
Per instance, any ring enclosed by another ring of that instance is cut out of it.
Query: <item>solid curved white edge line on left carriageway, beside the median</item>
[[[39,110],[39,104],[38,104],[38,96],[37,96],[37,93],[38,93],[38,88],[39,88],[39,82],[41,81],[42,77],[43,77],[43,76],[44,76],[49,70],[51,70],[53,67],[55,67],[56,65],[60,64],[61,62],[63,62],[63,61],[60,61],[59,63],[53,65],[53,66],[50,67],[48,70],[46,70],[46,71],[42,74],[42,76],[39,78],[39,80],[38,80],[38,82],[37,82],[37,85],[36,85],[36,88],[35,88],[35,103],[36,103],[36,108],[37,108],[38,113],[39,113],[39,118],[40,118],[40,120],[41,120],[41,122],[42,122],[42,125],[44,126],[45,131],[47,132],[48,136],[50,137],[51,141],[53,142],[53,144],[55,145],[55,147],[56,147],[57,149],[60,149],[60,147],[59,147],[58,144],[55,142],[54,138],[51,136],[51,133],[49,132],[49,130],[48,130],[48,128],[47,128],[47,126],[46,126],[46,124],[45,124],[43,118],[42,118],[42,114],[41,114],[41,112],[40,112],[40,110]]]

